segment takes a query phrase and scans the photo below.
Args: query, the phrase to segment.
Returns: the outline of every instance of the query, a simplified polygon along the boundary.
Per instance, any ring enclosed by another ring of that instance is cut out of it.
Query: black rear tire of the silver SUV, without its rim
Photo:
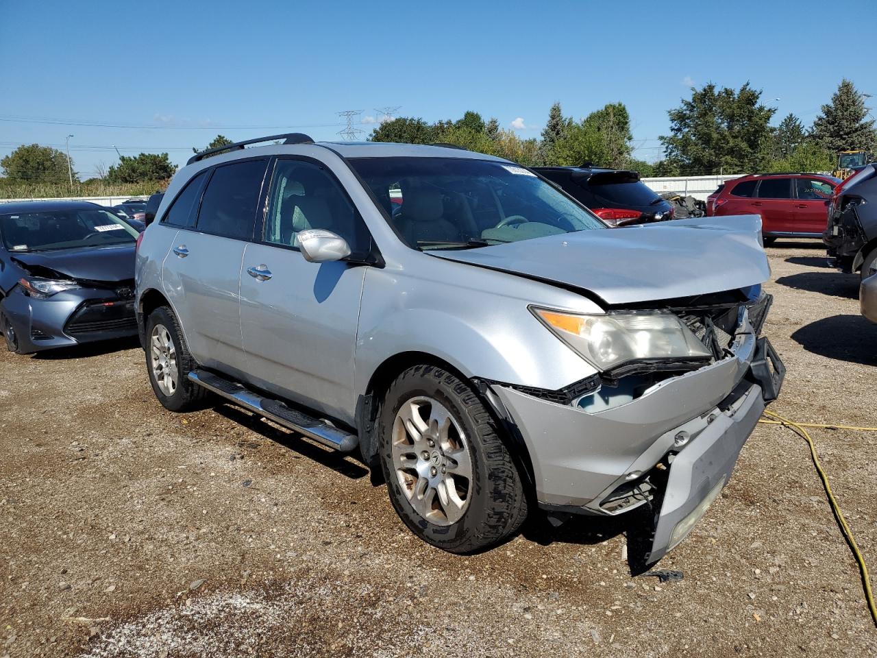
[[[161,390],[156,381],[152,362],[151,340],[156,326],[164,326],[168,330],[170,340],[173,341],[177,379],[175,390],[168,395]],[[146,372],[149,373],[149,383],[153,385],[153,393],[159,398],[159,402],[169,411],[196,411],[210,404],[210,391],[198,386],[189,380],[189,372],[197,368],[195,359],[189,354],[189,347],[183,338],[180,323],[177,321],[174,311],[168,306],[160,306],[146,318]]]

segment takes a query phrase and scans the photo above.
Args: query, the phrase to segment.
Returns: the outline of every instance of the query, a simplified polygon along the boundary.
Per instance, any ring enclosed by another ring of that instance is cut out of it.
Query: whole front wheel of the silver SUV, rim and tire
[[[378,413],[389,498],[411,532],[451,553],[494,546],[524,523],[524,483],[474,391],[442,368],[408,368]]]

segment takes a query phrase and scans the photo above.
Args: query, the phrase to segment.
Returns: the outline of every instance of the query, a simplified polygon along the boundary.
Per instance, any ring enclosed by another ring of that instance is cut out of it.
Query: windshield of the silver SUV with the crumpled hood
[[[467,158],[354,158],[350,163],[410,247],[486,247],[606,228],[517,165]]]

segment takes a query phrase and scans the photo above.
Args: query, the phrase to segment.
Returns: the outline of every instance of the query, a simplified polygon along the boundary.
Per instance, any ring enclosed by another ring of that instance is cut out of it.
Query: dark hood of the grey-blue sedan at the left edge
[[[77,247],[57,251],[10,252],[22,265],[53,269],[74,279],[125,281],[134,278],[134,245]]]

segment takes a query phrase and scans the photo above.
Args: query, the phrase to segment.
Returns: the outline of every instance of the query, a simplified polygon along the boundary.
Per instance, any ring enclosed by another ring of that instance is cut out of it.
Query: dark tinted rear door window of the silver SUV
[[[264,159],[217,167],[204,190],[198,230],[236,240],[252,239],[266,167]]]

